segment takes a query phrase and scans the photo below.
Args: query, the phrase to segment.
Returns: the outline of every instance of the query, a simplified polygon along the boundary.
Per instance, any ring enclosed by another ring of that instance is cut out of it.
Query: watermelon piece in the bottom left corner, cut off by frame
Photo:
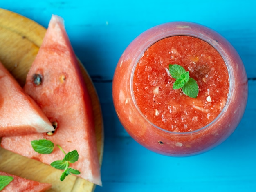
[[[43,192],[52,187],[49,183],[32,181],[13,174],[0,171],[0,175],[11,176],[13,180],[1,192]]]

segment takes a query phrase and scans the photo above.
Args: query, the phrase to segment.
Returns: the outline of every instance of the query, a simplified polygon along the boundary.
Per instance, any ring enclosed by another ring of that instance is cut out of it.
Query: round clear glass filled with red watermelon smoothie
[[[174,69],[181,77],[171,66],[183,68]],[[174,89],[182,79],[183,87]],[[219,33],[196,23],[169,22],[128,45],[115,69],[112,95],[117,116],[135,141],[159,154],[191,156],[234,132],[247,103],[247,75]]]

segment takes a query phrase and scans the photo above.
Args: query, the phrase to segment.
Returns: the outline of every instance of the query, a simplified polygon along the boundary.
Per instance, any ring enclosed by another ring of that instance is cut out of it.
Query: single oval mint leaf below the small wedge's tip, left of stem
[[[50,154],[53,151],[54,143],[47,139],[31,141],[33,149],[40,154]]]

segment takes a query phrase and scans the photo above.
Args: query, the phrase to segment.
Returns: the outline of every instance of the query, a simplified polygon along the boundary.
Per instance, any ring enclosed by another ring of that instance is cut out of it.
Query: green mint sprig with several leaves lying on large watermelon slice
[[[40,154],[50,154],[54,150],[54,143],[47,139],[33,140],[31,141],[31,145],[33,149]],[[69,168],[70,163],[75,163],[78,161],[79,154],[77,150],[68,152],[66,154],[60,145],[57,145],[57,147],[65,154],[65,156],[62,160],[54,161],[50,165],[56,169],[64,170],[61,174],[60,180],[63,181],[66,176],[70,174],[80,174],[79,170]]]

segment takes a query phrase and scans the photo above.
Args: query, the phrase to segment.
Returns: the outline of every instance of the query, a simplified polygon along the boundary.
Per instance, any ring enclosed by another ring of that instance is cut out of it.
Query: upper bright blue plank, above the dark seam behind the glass
[[[110,80],[119,57],[140,33],[164,22],[206,25],[229,40],[245,62],[249,77],[256,65],[256,3],[254,1],[70,1],[10,0],[2,8],[20,13],[44,27],[51,14],[65,19],[70,40],[91,76]],[[95,70],[97,69],[97,70]]]

